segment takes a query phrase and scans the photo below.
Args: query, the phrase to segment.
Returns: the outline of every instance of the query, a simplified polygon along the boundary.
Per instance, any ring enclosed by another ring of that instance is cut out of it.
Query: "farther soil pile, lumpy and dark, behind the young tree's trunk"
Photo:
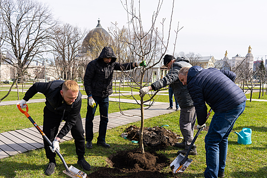
[[[126,129],[127,139],[139,141],[140,128],[135,125]],[[153,149],[165,149],[167,146],[174,146],[176,142],[181,142],[180,135],[165,129],[164,127],[145,127],[143,130],[144,146]]]

